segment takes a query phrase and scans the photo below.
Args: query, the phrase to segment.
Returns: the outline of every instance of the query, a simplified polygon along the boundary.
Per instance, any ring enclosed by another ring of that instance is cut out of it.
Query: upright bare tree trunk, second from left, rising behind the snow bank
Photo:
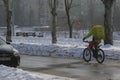
[[[57,7],[57,0],[48,0],[49,1],[49,6],[50,6],[50,12],[52,15],[52,23],[51,23],[51,34],[52,34],[52,43],[57,42],[57,37],[56,37],[56,7]]]

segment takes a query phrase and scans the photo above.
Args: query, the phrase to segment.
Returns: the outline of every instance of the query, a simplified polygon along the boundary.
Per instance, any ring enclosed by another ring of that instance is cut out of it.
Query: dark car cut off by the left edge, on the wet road
[[[20,55],[18,50],[0,37],[0,64],[17,67],[20,65]]]

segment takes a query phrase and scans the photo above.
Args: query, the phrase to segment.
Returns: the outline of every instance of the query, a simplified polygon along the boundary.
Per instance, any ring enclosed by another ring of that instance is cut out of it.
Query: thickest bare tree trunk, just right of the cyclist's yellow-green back
[[[101,0],[105,6],[104,27],[105,44],[113,45],[113,26],[112,26],[112,5],[115,0]]]

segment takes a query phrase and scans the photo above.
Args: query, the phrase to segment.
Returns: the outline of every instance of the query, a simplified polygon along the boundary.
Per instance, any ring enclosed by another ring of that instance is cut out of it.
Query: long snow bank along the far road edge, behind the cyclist
[[[114,46],[101,47],[107,59],[120,59],[119,43],[115,41]],[[81,39],[58,38],[57,44],[52,44],[50,37],[14,37],[12,45],[20,54],[82,58],[82,52],[88,44]]]

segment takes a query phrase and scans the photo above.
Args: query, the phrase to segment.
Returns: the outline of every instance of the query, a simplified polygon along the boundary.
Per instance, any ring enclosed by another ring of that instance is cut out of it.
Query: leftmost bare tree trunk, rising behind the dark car
[[[3,0],[4,5],[5,5],[5,9],[6,9],[6,23],[7,23],[7,35],[6,35],[6,41],[7,42],[11,42],[11,35],[12,35],[12,31],[11,31],[11,18],[12,18],[12,9],[10,7],[10,1],[12,0]]]

